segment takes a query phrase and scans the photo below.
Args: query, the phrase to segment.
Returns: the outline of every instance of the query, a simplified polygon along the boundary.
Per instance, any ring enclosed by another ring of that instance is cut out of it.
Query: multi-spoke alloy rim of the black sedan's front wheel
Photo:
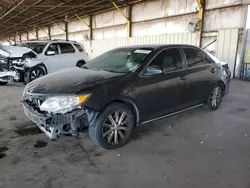
[[[103,124],[102,136],[107,144],[117,145],[125,141],[129,136],[130,117],[124,111],[116,111],[110,114]]]

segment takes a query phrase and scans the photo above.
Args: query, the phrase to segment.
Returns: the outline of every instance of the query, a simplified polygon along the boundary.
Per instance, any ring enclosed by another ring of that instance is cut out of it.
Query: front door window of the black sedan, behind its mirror
[[[167,49],[158,54],[150,66],[159,66],[163,72],[171,72],[183,68],[179,49]]]

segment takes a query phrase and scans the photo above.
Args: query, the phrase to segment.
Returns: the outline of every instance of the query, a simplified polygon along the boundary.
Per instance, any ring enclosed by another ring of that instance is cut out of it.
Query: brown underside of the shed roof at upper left
[[[135,0],[0,0],[0,37],[67,22],[125,6]]]

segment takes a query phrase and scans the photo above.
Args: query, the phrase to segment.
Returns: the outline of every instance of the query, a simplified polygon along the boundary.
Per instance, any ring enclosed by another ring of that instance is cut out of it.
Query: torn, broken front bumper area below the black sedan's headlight
[[[57,139],[63,134],[77,136],[79,131],[88,127],[98,115],[98,112],[83,107],[66,114],[43,114],[29,105],[27,101],[23,101],[23,108],[27,118],[34,122],[51,140]]]

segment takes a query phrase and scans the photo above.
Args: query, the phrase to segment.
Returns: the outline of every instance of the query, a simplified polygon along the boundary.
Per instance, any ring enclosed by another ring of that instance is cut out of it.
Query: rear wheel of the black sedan
[[[223,89],[220,84],[215,84],[208,96],[207,104],[212,110],[219,108],[223,96]]]

